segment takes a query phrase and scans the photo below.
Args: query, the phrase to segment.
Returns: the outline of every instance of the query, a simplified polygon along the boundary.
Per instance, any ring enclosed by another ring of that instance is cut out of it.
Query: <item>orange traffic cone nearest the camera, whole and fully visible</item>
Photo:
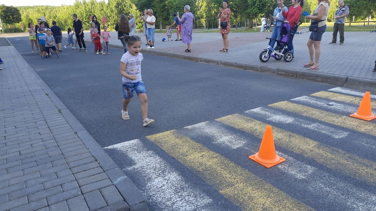
[[[276,154],[276,149],[274,148],[273,132],[271,131],[270,125],[266,126],[259,152],[249,156],[249,159],[254,160],[267,168],[285,161],[284,158],[281,158]]]

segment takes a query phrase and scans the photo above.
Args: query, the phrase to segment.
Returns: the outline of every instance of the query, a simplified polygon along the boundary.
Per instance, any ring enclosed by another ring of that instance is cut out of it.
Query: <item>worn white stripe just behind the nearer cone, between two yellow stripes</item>
[[[305,127],[310,130],[314,130],[329,136],[332,136],[336,139],[344,138],[349,135],[349,132],[338,130],[321,123],[314,123],[300,118],[293,118],[292,116],[285,115],[281,112],[273,110],[268,107],[259,107],[257,109],[248,110],[244,113],[255,114],[258,117],[264,118],[268,121],[276,122],[279,124],[292,124],[300,127]]]

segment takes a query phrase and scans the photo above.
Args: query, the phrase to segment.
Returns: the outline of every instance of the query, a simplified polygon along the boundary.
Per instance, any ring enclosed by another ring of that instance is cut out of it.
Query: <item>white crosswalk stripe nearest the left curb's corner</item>
[[[215,211],[212,199],[188,184],[165,160],[149,151],[139,139],[118,143],[104,149],[117,149],[129,156],[134,165],[127,170],[137,172],[146,182],[141,190],[146,198],[165,211]],[[141,189],[141,188],[140,188]]]

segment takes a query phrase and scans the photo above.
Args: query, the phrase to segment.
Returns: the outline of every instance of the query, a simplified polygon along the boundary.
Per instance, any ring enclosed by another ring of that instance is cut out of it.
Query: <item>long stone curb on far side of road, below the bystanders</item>
[[[92,44],[92,42],[86,41],[86,40],[85,40],[85,43]],[[109,44],[109,46],[114,47],[114,48],[123,48],[123,46],[121,45]],[[168,53],[165,51],[149,50],[149,49],[144,49],[144,48],[141,49],[141,52],[154,54],[158,56],[171,57],[175,59],[185,59],[185,60],[190,60],[194,62],[208,63],[211,65],[228,66],[228,67],[244,69],[244,70],[252,71],[252,72],[261,72],[261,73],[266,73],[266,74],[280,75],[280,76],[288,77],[288,78],[315,81],[318,83],[326,83],[326,84],[332,84],[335,86],[344,86],[344,87],[349,87],[349,88],[363,89],[363,90],[376,92],[376,81],[366,79],[366,78],[355,78],[355,77],[333,75],[333,74],[327,74],[327,73],[321,73],[321,72],[276,68],[276,67],[271,67],[267,65],[249,64],[249,63],[243,63],[243,62],[222,61],[218,59],[202,58],[198,56],[191,56],[191,55],[178,54],[178,53]]]

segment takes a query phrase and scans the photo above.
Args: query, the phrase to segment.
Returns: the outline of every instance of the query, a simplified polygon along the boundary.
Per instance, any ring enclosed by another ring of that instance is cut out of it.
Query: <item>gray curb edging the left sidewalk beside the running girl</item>
[[[7,39],[12,45],[12,43]],[[15,47],[14,47],[15,48]],[[136,185],[124,174],[124,172],[118,167],[118,165],[109,157],[109,155],[103,150],[99,143],[89,134],[89,132],[82,126],[82,124],[73,116],[63,102],[55,95],[50,87],[39,77],[38,73],[27,63],[27,61],[21,56],[20,52],[15,48],[16,53],[27,66],[30,73],[35,77],[38,84],[42,87],[45,93],[47,93],[51,101],[56,107],[61,108],[62,116],[71,126],[71,128],[77,132],[77,136],[82,140],[83,144],[88,148],[89,152],[97,159],[102,169],[106,172],[112,184],[117,188],[124,202],[117,202],[109,206],[99,209],[100,211],[149,211],[146,198],[141,191],[138,190]]]

